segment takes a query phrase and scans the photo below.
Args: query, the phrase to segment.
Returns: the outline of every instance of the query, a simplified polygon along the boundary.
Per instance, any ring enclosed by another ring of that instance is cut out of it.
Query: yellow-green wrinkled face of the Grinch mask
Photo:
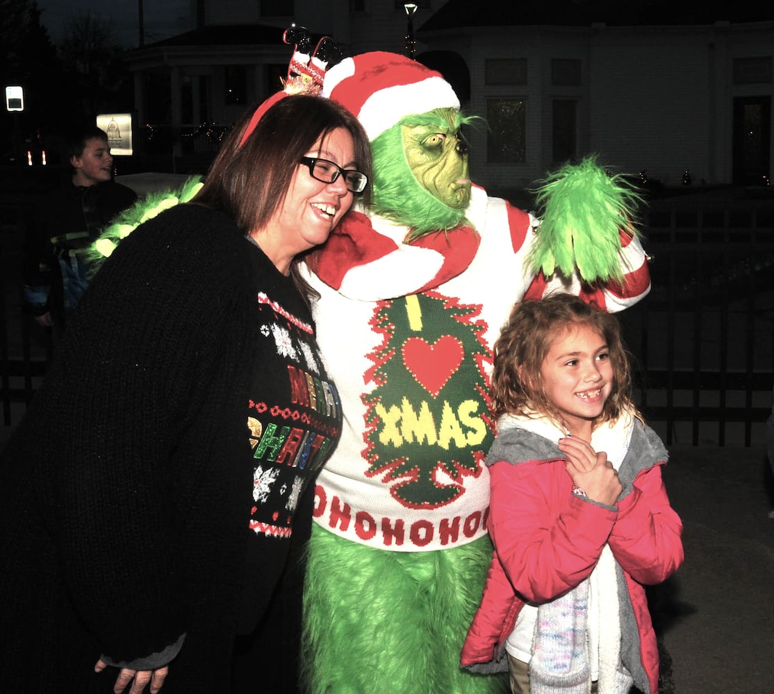
[[[471,181],[457,111],[438,108],[432,113],[437,122],[402,126],[406,161],[423,188],[450,208],[464,209],[471,199]]]

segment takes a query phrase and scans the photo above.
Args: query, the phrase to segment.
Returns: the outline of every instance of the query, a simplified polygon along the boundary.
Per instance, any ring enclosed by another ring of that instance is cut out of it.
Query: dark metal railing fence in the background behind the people
[[[0,209],[2,425],[42,382],[50,336],[22,310],[24,205]],[[620,314],[635,397],[667,444],[763,440],[774,371],[774,196],[712,193],[652,202],[644,219],[652,291]]]

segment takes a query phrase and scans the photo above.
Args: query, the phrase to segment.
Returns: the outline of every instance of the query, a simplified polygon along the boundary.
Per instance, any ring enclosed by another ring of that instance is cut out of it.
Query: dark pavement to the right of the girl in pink
[[[665,694],[771,694],[774,505],[765,446],[670,446],[664,479],[685,548],[678,573],[653,592],[672,658]]]

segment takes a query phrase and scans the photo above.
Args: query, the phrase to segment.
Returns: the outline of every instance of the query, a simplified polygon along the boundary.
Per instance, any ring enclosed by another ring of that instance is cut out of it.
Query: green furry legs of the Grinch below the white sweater
[[[388,552],[314,526],[303,652],[313,694],[492,694],[507,675],[460,669],[491,542]]]

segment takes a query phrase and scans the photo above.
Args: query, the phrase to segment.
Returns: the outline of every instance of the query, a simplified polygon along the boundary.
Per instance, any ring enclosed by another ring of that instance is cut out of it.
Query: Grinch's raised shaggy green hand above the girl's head
[[[570,277],[577,267],[586,282],[621,281],[620,231],[636,234],[632,219],[642,196],[622,175],[608,175],[594,156],[567,164],[543,179],[536,194],[542,210],[529,267],[550,277]]]

